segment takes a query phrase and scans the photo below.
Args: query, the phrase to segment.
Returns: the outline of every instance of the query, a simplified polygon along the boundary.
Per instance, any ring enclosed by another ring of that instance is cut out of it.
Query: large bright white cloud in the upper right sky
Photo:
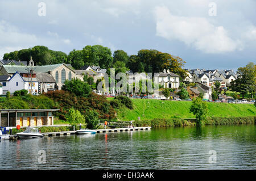
[[[205,53],[241,50],[241,41],[233,40],[222,26],[214,26],[206,18],[175,16],[167,7],[156,7],[156,35],[180,40]]]

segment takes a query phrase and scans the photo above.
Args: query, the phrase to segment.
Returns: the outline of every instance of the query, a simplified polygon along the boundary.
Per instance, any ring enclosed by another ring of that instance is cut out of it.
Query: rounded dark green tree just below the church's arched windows
[[[62,90],[73,92],[76,96],[89,96],[90,86],[79,78],[72,78],[71,81],[65,80]]]

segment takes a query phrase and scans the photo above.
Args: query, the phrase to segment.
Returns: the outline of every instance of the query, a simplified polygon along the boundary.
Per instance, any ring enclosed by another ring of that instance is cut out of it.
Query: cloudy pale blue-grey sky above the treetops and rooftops
[[[35,45],[68,54],[100,44],[112,53],[167,52],[189,69],[237,70],[256,62],[255,7],[255,0],[1,0],[0,59]]]

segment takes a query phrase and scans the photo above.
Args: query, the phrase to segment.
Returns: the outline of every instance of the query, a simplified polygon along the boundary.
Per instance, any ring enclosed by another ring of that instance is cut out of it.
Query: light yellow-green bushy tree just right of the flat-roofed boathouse
[[[72,125],[76,126],[77,124],[84,124],[85,117],[81,115],[79,110],[75,110],[74,108],[69,109],[68,113],[65,115],[66,120]]]

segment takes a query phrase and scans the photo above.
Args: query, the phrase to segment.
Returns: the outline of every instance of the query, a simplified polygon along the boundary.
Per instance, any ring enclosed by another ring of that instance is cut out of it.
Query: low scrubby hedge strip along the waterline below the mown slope
[[[255,124],[256,116],[248,117],[214,117],[207,119],[205,125],[228,125],[228,124]],[[135,127],[185,127],[195,126],[196,123],[183,119],[152,119],[152,120],[135,120]]]

